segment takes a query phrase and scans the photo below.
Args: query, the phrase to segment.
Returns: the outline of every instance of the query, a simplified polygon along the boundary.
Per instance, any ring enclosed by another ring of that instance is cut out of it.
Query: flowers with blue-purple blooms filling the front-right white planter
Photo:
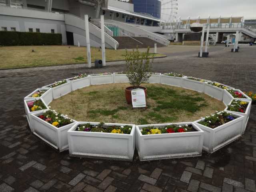
[[[236,118],[236,116],[233,116],[232,114],[224,111],[221,113],[213,114],[211,116],[206,116],[204,120],[199,121],[198,123],[214,129]]]

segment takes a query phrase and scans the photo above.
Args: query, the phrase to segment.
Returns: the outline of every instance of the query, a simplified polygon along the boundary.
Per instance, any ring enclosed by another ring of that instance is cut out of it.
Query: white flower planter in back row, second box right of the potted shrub
[[[182,87],[183,74],[178,74],[174,72],[165,73],[161,75],[161,83],[171,86]]]

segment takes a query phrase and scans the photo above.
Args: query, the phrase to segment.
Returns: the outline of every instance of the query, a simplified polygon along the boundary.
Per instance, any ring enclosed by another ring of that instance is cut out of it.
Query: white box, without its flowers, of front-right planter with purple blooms
[[[236,114],[232,115],[238,116]],[[204,131],[203,149],[209,153],[219,150],[242,135],[244,122],[243,116],[238,116],[235,120],[227,122],[214,129],[199,124],[199,121],[201,120],[195,121],[195,124]]]

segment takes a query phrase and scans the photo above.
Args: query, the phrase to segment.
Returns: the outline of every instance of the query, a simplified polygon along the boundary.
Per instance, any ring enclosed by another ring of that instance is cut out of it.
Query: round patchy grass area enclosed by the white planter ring
[[[148,88],[148,108],[132,108],[126,103],[126,83],[95,85],[76,90],[54,100],[50,106],[78,121],[155,124],[188,122],[224,110],[222,102],[192,90],[162,84]]]

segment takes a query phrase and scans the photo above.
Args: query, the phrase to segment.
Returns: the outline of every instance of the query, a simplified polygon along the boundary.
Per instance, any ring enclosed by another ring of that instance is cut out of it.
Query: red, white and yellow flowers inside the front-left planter
[[[38,117],[57,128],[73,123],[72,119],[64,118],[55,110],[45,111],[44,114],[39,115]]]

